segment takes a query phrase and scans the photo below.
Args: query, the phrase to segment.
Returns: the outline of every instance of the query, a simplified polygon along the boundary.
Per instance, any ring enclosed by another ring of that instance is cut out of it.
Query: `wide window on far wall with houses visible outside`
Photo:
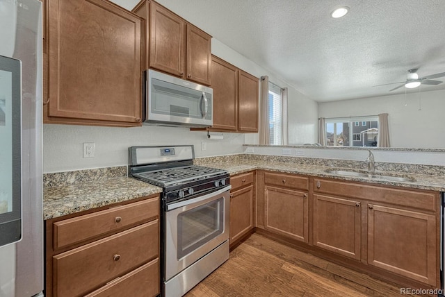
[[[327,146],[378,145],[377,116],[325,119],[325,125]]]

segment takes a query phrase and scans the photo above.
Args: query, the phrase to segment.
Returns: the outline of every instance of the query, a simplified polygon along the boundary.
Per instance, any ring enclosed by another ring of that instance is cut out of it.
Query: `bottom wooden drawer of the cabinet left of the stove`
[[[86,297],[151,297],[159,294],[159,258],[108,282]]]

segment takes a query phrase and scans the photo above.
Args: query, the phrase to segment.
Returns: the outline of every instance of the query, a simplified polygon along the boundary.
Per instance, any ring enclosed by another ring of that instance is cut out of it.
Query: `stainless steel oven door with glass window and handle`
[[[165,281],[229,239],[229,191],[166,205]]]

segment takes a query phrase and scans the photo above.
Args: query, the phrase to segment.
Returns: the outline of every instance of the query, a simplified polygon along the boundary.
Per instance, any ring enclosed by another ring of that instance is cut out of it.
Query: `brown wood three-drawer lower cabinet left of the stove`
[[[45,222],[45,296],[159,294],[159,196],[138,200]]]

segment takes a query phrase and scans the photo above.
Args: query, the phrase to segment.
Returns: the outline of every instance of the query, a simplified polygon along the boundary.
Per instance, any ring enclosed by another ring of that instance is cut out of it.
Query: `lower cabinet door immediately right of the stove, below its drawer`
[[[253,185],[250,185],[230,194],[230,244],[253,227]]]

